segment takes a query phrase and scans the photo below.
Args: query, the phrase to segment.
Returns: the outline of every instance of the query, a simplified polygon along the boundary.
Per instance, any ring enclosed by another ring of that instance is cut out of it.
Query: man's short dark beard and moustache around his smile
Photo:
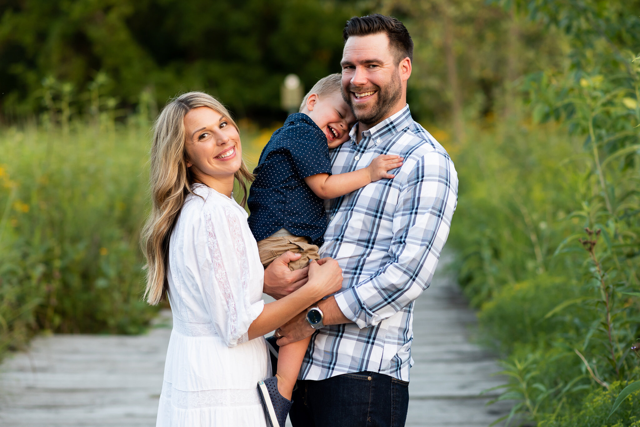
[[[371,108],[364,108],[361,104],[356,104],[353,102],[350,93],[355,90],[360,93],[371,92],[372,90],[378,91],[378,102],[371,106]],[[356,120],[367,126],[372,126],[386,118],[389,110],[396,105],[396,102],[402,96],[402,85],[400,83],[400,77],[394,73],[390,83],[383,87],[372,85],[371,88],[365,88],[365,90],[363,90],[363,88],[358,86],[349,86],[348,91],[348,93],[343,93],[342,97],[349,107],[351,107]]]

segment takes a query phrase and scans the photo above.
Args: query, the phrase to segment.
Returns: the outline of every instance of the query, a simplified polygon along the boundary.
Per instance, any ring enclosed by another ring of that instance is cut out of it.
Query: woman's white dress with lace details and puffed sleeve
[[[248,328],[264,308],[264,268],[234,200],[202,184],[169,245],[173,331],[157,427],[266,426],[257,382],[271,375],[263,337]],[[204,200],[203,200],[204,198]]]

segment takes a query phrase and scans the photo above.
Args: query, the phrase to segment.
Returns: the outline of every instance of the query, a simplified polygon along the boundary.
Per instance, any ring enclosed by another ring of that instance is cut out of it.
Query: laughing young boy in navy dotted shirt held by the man
[[[291,270],[319,259],[326,216],[323,200],[340,197],[402,166],[399,156],[380,155],[366,168],[332,175],[329,149],[349,140],[355,117],[340,94],[340,74],[320,79],[307,93],[300,113],[287,117],[271,136],[253,171],[257,175],[248,199],[249,227],[258,241],[260,261],[266,268],[287,250],[300,253]],[[276,375],[258,389],[271,427],[284,427],[310,338],[282,346]]]

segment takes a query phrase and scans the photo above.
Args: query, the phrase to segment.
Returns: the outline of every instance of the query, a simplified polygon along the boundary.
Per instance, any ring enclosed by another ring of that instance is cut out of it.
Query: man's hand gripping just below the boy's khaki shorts
[[[307,283],[308,266],[300,270],[289,270],[289,262],[300,259],[300,254],[287,251],[277,257],[264,270],[264,287],[262,292],[280,300]],[[307,335],[308,336],[308,335]]]

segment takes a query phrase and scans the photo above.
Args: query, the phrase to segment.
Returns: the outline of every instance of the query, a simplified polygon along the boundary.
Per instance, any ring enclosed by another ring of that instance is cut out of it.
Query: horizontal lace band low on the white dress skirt
[[[182,409],[260,405],[257,389],[182,391],[165,381],[161,396],[170,399],[173,407]]]

